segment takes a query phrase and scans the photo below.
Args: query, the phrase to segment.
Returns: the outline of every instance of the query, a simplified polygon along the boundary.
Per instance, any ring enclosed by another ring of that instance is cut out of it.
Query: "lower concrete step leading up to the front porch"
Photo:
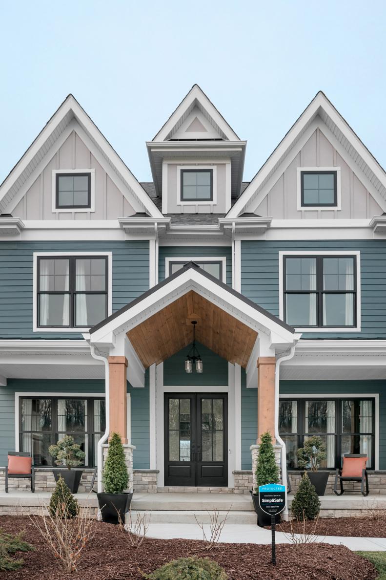
[[[143,510],[132,509],[132,523],[134,524],[137,516],[142,516],[145,512]],[[213,513],[213,512],[212,512]],[[146,511],[146,521],[151,524],[196,524],[197,521],[203,524],[210,524],[210,512],[202,512],[199,510],[193,511],[176,511],[176,510],[157,510],[155,512]],[[219,512],[219,520],[224,520],[227,512]],[[130,516],[126,514],[126,523],[129,523]],[[256,513],[254,512],[230,512],[227,516],[228,524],[256,524]]]

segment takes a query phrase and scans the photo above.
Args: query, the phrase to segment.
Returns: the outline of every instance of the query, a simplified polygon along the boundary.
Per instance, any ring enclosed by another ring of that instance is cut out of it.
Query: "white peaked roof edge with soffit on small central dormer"
[[[170,139],[174,132],[180,128],[184,121],[197,107],[213,128],[224,140],[239,141],[231,126],[225,121],[223,115],[219,113],[212,101],[208,99],[203,90],[198,85],[193,85],[188,94],[183,98],[179,106],[167,119],[166,123],[158,131],[152,141],[166,141]]]

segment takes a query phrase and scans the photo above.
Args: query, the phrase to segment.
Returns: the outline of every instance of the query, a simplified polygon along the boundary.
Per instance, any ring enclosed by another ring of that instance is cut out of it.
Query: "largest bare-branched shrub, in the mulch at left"
[[[79,510],[77,517],[65,517],[68,513],[68,501],[70,498],[59,503],[54,513],[41,506],[39,514],[29,518],[58,563],[68,572],[77,572],[82,550],[96,532],[96,518],[90,514],[88,508],[82,514]]]

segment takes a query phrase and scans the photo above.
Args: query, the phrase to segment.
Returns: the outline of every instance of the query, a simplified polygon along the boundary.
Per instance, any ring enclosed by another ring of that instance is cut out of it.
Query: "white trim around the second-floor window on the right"
[[[355,256],[356,257],[356,327],[296,327],[296,332],[360,332],[360,252],[359,251],[290,251],[279,252],[279,318],[284,320],[284,256]]]

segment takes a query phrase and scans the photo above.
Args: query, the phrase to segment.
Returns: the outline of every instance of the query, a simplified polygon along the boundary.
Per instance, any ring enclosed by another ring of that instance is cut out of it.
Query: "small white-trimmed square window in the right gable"
[[[341,209],[340,168],[297,168],[298,210]]]

